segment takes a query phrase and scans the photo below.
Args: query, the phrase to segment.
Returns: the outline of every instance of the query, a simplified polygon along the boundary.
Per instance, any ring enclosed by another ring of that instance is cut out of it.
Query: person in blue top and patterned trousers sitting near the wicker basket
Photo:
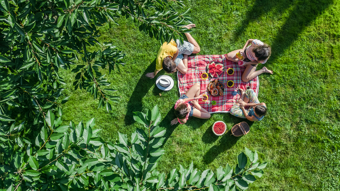
[[[230,109],[230,114],[249,121],[261,121],[267,113],[266,104],[258,101],[254,90],[247,89],[244,92],[243,89],[238,89],[241,91],[241,97]],[[251,106],[251,109],[245,110],[245,106]]]

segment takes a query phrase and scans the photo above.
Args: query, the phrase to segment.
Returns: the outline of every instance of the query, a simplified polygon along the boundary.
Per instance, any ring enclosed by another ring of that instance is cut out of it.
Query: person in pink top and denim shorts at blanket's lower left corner
[[[200,95],[200,91],[201,85],[196,83],[191,86],[189,90],[180,97],[179,100],[177,100],[175,103],[175,115],[177,118],[171,121],[171,125],[177,124],[177,122],[184,124],[187,122],[190,116],[201,119],[210,118],[209,112],[201,107],[201,105],[198,103],[198,100],[203,98],[203,95]],[[190,102],[194,107],[188,104]]]

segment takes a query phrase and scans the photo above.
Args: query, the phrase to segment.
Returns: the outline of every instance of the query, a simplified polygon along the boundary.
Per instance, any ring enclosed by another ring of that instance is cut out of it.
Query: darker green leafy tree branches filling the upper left
[[[191,22],[184,16],[189,10],[175,12],[173,3],[184,6],[181,0],[1,0],[0,115],[11,117],[8,106],[27,108],[27,117],[37,123],[48,109],[59,110],[68,99],[58,101],[63,96],[61,84],[65,84],[59,73],[75,63],[71,70],[74,89],[90,92],[99,99],[98,108],[111,110],[111,103],[119,97],[110,93],[116,90],[103,88],[111,83],[100,69],[120,72],[125,54],[111,42],[99,42],[98,28],[121,16],[132,17],[141,22],[141,31],[161,42],[183,41],[181,33],[190,32],[181,29],[182,22]],[[165,11],[167,7],[171,10]],[[91,46],[99,50],[89,51]]]

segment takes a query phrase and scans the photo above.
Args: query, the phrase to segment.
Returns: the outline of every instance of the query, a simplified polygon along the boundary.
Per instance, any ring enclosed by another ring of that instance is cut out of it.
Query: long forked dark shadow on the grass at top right
[[[269,59],[270,61],[276,60],[279,55],[291,46],[298,35],[331,4],[333,4],[333,0],[257,0],[251,11],[246,14],[245,19],[241,21],[239,27],[236,29],[233,40],[237,41],[237,39],[242,36],[243,32],[246,31],[249,23],[256,21],[267,12],[275,9],[276,15],[281,15],[288,8],[293,6],[286,22],[278,31],[275,39],[271,42],[272,54]]]

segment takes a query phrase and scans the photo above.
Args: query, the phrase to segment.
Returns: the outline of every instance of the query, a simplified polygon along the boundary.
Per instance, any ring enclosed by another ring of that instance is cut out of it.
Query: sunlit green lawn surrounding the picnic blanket
[[[119,26],[102,27],[100,41],[113,41],[126,53],[122,72],[106,75],[111,88],[118,89],[120,102],[109,113],[97,110],[98,100],[72,86],[74,74],[65,71],[69,82],[64,94],[63,120],[79,122],[96,118],[101,137],[115,141],[118,131],[128,136],[141,126],[133,111],[146,112],[158,105],[161,126],[167,129],[166,150],[157,169],[168,173],[182,164],[215,170],[229,163],[235,166],[244,146],[257,150],[260,160],[270,162],[263,177],[249,190],[339,190],[340,189],[340,4],[331,0],[208,1],[185,0],[197,25],[191,35],[201,47],[199,54],[226,54],[243,47],[249,38],[272,47],[263,65],[273,75],[259,76],[258,98],[268,114],[251,124],[246,136],[216,137],[211,125],[223,120],[231,128],[242,121],[229,113],[210,119],[190,118],[184,125],[170,125],[173,106],[179,98],[175,86],[162,92],[155,79],[145,77],[155,68],[160,43],[139,32],[131,20],[118,19]],[[176,7],[180,10],[179,7]],[[258,69],[260,69],[259,66]],[[108,73],[107,69],[103,73]],[[164,74],[164,72],[160,72]],[[159,74],[158,74],[159,75]],[[176,74],[170,74],[177,84]],[[159,95],[162,94],[162,96]]]

